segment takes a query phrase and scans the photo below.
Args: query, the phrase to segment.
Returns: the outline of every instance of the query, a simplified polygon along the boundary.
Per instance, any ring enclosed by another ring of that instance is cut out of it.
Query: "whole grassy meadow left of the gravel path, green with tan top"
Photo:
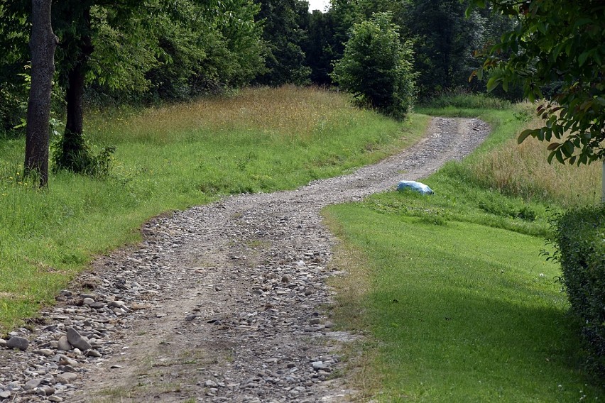
[[[94,255],[139,241],[152,216],[339,175],[414,143],[427,121],[295,87],[90,112],[89,140],[117,148],[109,177],[60,172],[43,191],[21,178],[24,140],[0,140],[0,333],[52,304]]]

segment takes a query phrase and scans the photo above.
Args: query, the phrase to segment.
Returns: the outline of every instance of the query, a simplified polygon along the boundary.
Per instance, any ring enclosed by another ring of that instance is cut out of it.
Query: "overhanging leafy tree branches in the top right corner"
[[[538,106],[545,125],[524,131],[519,142],[528,136],[550,142],[549,161],[579,165],[605,158],[605,2],[495,0],[489,6],[516,25],[476,71],[479,77],[489,72],[488,90],[518,83],[533,101],[543,97],[546,84],[558,87]]]

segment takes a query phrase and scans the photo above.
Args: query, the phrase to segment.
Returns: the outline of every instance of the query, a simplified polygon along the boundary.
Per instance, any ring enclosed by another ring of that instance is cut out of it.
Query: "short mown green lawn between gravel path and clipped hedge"
[[[345,326],[369,329],[378,351],[363,371],[371,387],[364,398],[572,402],[604,396],[578,370],[579,338],[556,281],[560,271],[538,256],[542,239],[477,223],[429,223],[369,204],[327,209],[327,221],[337,222],[332,228],[346,244],[341,253],[361,251],[366,262],[349,262],[358,282],[348,283],[346,292],[341,280],[335,284],[337,316],[344,315]]]

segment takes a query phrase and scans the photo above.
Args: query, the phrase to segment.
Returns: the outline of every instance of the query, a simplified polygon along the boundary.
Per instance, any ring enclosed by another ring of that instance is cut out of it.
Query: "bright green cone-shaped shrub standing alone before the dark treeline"
[[[391,13],[374,13],[353,26],[332,78],[359,104],[403,119],[415,100],[415,74],[411,45],[401,42],[391,18]]]

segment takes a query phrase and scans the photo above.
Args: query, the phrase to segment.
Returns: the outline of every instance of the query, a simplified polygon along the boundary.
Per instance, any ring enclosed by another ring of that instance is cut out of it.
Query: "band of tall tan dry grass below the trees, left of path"
[[[159,106],[136,116],[90,117],[94,121],[91,126],[104,128],[100,134],[103,140],[128,133],[130,140],[158,143],[174,141],[175,132],[198,137],[204,133],[254,130],[269,137],[308,138],[331,126],[351,125],[359,120],[359,116],[351,114],[351,105],[342,94],[292,86],[242,89],[234,96]]]

